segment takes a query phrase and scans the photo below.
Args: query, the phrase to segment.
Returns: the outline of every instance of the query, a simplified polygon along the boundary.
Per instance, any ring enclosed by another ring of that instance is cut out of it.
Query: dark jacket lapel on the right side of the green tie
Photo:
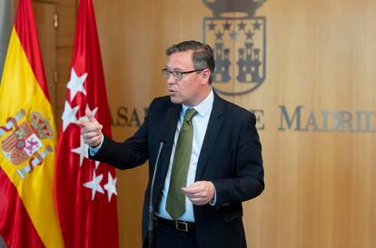
[[[223,124],[223,110],[224,102],[223,100],[214,93],[214,102],[212,114],[210,115],[209,124],[206,129],[206,134],[203,139],[203,146],[201,148],[199,160],[197,163],[195,181],[198,181],[203,174],[203,169],[212,153],[215,140],[220,133]]]

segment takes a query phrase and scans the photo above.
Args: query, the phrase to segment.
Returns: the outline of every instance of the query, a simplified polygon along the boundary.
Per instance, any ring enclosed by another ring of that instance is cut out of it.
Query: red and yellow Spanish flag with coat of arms
[[[31,0],[19,0],[0,84],[0,235],[9,248],[64,247],[53,116]]]

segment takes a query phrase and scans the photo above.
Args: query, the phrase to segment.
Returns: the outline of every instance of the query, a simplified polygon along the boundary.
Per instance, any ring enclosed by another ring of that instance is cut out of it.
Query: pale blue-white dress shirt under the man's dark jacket
[[[193,106],[193,108],[197,111],[197,114],[193,116],[192,123],[193,123],[193,142],[192,142],[192,154],[191,154],[191,162],[189,164],[188,169],[188,176],[187,176],[187,184],[189,186],[194,183],[194,178],[196,176],[196,168],[198,159],[200,156],[201,148],[203,146],[203,138],[206,134],[206,128],[208,127],[210,114],[212,113],[213,109],[213,102],[214,102],[214,94],[213,89],[211,93],[203,100],[201,104],[197,104]],[[186,110],[189,107],[183,104],[182,112],[180,113],[180,118],[176,127],[175,137],[173,140],[173,151],[171,153],[170,164],[168,165],[168,171],[166,175],[166,179],[164,181],[163,191],[162,191],[162,199],[159,205],[159,209],[157,211],[157,215],[164,219],[172,220],[173,218],[170,216],[169,213],[166,211],[166,201],[168,195],[168,189],[170,187],[170,178],[171,178],[171,171],[173,168],[173,156],[175,154],[176,143],[179,137],[180,128],[183,124],[183,119]],[[179,220],[185,222],[194,222],[194,214],[193,214],[193,203],[185,197],[185,213]]]

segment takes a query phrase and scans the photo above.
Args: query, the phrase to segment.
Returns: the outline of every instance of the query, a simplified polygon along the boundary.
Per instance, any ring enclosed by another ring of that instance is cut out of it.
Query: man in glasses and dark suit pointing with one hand
[[[139,130],[123,143],[114,142],[87,110],[89,122],[79,122],[84,142],[93,159],[119,169],[149,160],[151,179],[160,132],[166,114],[171,114],[153,188],[154,247],[246,247],[242,202],[264,188],[255,116],[213,92],[209,45],[185,41],[169,47],[166,55],[163,76],[169,96],[153,100]],[[143,241],[150,181],[143,204]]]

